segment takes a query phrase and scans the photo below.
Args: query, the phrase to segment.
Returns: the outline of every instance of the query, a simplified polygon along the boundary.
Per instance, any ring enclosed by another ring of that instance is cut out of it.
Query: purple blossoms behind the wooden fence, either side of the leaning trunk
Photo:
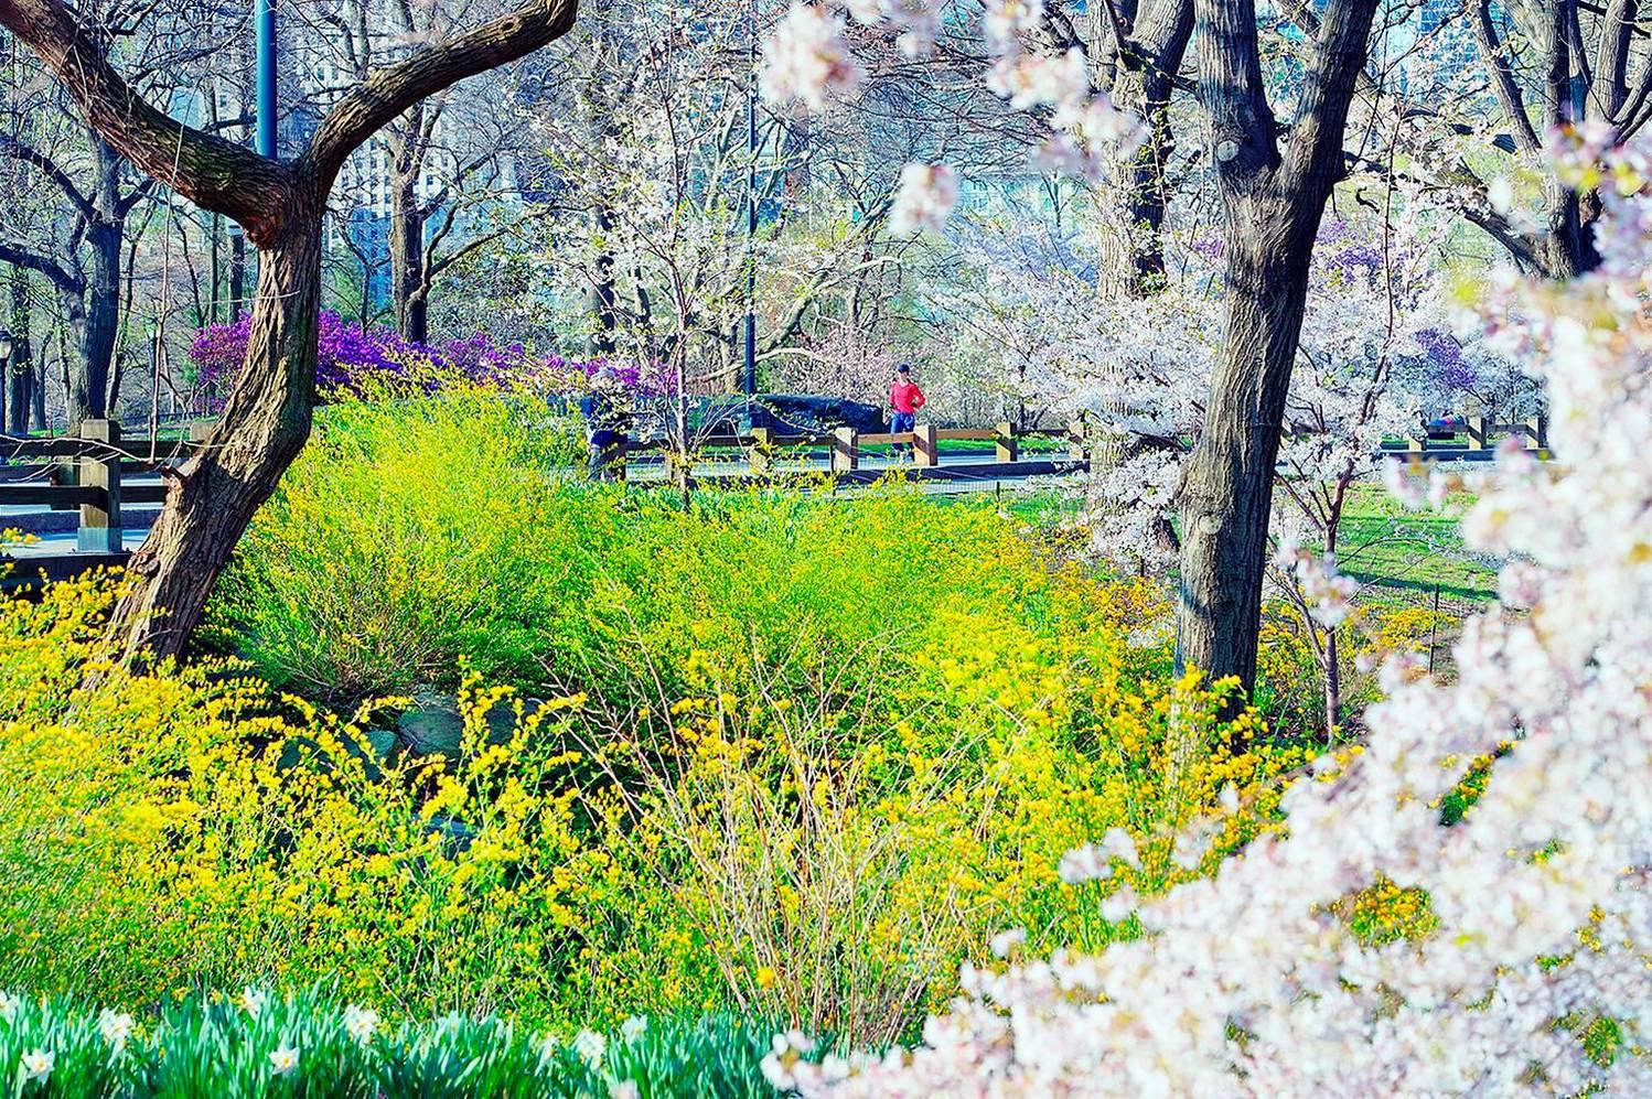
[[[202,328],[190,343],[190,361],[197,384],[218,398],[241,370],[251,338],[251,315],[226,325]],[[603,358],[568,360],[560,355],[540,358],[522,343],[497,343],[487,332],[472,332],[459,340],[416,343],[383,325],[347,323],[339,314],[324,310],[316,333],[316,386],[322,393],[358,393],[368,381],[406,381],[425,389],[446,381],[514,388],[527,386],[545,393],[582,393],[606,386],[638,396],[667,393],[666,371]]]

